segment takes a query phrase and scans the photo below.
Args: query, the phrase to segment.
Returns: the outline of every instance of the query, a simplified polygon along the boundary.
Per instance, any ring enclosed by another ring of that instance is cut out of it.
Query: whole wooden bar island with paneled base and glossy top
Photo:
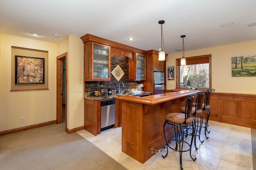
[[[168,113],[180,112],[186,97],[199,90],[182,90],[145,97],[122,95],[116,104],[122,114],[122,152],[141,163],[154,155],[153,149],[164,147],[163,125]],[[173,137],[172,126],[166,125],[166,138]]]

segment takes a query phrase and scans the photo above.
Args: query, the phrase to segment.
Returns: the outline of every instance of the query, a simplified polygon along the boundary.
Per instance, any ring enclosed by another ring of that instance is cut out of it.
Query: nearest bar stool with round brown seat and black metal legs
[[[194,125],[193,125],[193,119],[192,119],[192,107],[193,107],[193,99],[194,95],[190,95],[187,97],[186,100],[186,106],[185,106],[185,114],[183,113],[168,113],[166,115],[166,120],[164,122],[164,127],[167,124],[172,125],[174,127],[174,136],[175,138],[168,141],[166,140],[165,130],[164,130],[164,138],[166,141],[166,148],[167,153],[166,155],[162,155],[163,158],[165,158],[168,154],[168,147],[172,150],[178,151],[180,153],[180,169],[182,168],[182,153],[189,151],[190,157],[191,155],[191,146],[194,139]],[[189,126],[192,126],[192,138],[190,141],[190,144],[187,141],[184,141],[184,129],[188,128]],[[170,144],[172,142],[175,142],[175,148],[171,147]],[[184,147],[188,147],[188,149],[183,150],[183,144],[185,144]],[[192,158],[193,161],[196,160],[196,158]]]

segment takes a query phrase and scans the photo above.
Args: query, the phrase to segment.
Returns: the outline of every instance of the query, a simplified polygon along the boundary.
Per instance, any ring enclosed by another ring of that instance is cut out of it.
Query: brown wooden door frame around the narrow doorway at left
[[[68,96],[68,64],[67,64],[67,59],[68,59],[68,53],[63,53],[62,55],[59,55],[56,57],[57,58],[57,113],[56,113],[56,123],[62,123],[62,95],[66,95],[66,129],[67,129],[67,96]],[[62,86],[63,86],[63,59],[66,59],[66,93],[62,94]]]

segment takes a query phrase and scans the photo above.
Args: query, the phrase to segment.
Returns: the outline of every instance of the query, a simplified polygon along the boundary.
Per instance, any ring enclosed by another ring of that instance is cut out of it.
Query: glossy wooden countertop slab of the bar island
[[[156,94],[151,96],[145,96],[138,98],[136,96],[128,96],[128,95],[121,95],[118,97],[120,100],[130,101],[130,102],[138,102],[141,104],[160,104],[163,102],[168,102],[170,100],[176,100],[178,98],[186,97],[191,94],[195,94],[199,92],[198,90],[182,90],[178,92],[170,92],[170,93],[163,93],[163,94]]]

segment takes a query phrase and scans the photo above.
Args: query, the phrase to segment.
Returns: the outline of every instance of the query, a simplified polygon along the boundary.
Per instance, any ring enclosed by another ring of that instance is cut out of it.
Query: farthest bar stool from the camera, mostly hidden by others
[[[205,127],[204,127],[204,135],[206,137],[206,139],[208,139],[209,137],[207,137],[206,132],[210,133],[210,131],[208,131],[208,121],[209,121],[209,117],[210,117],[210,98],[211,98],[211,93],[214,92],[215,89],[210,89],[210,90],[206,90],[206,94],[204,97],[204,107],[202,108],[202,110],[204,111],[205,114]]]

